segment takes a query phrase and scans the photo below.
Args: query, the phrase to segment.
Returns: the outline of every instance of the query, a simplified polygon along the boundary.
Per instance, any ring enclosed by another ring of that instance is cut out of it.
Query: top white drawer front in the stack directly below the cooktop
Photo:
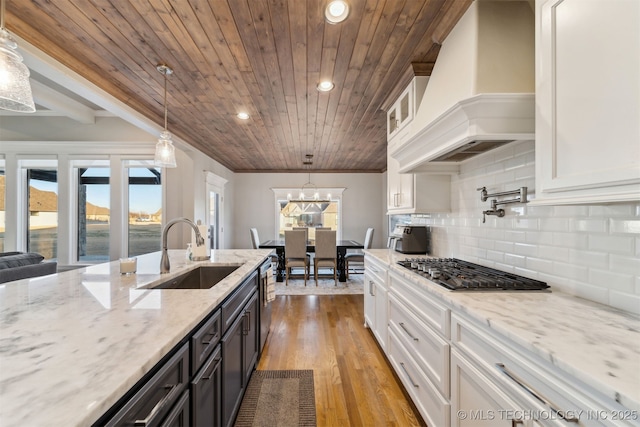
[[[420,320],[432,327],[444,338],[449,338],[450,310],[429,298],[421,285],[389,273],[389,288]]]

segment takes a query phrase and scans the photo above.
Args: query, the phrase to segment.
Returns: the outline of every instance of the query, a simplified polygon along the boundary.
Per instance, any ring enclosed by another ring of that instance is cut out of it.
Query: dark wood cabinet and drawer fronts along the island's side
[[[232,425],[259,330],[255,271],[94,426]]]

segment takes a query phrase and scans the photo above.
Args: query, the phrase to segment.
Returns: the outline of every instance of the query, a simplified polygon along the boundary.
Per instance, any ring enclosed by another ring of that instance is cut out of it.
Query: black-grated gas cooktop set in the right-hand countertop
[[[401,266],[450,291],[544,291],[545,282],[456,258],[407,258]]]

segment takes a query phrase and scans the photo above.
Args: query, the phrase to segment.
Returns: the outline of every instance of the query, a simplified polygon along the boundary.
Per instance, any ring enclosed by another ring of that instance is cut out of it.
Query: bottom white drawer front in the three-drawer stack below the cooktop
[[[451,405],[409,356],[393,330],[389,330],[389,359],[405,389],[429,426],[450,426]]]

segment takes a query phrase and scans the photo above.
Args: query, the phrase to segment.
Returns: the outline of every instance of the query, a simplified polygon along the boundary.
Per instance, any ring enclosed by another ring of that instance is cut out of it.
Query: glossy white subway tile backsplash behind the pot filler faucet
[[[640,314],[640,203],[502,205],[505,217],[482,222],[490,204],[480,201],[477,188],[526,186],[532,200],[534,173],[533,141],[477,156],[451,179],[451,213],[413,215],[412,222],[431,227],[434,256],[543,280],[552,291]]]

